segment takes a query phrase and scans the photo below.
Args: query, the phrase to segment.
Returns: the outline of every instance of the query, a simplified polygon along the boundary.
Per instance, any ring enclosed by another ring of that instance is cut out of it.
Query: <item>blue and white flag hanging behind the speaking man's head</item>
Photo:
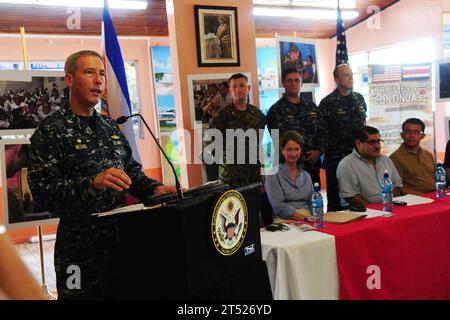
[[[123,64],[122,52],[109,13],[108,1],[104,1],[102,18],[102,56],[106,71],[106,97],[107,106],[102,113],[112,119],[131,115],[131,102],[128,93],[127,77]],[[133,119],[120,125],[120,129],[128,140],[133,158],[141,163],[133,131]]]

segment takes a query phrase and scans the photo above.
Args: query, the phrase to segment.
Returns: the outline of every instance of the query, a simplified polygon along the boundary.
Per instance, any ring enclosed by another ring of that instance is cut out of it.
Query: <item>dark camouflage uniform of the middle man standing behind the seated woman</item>
[[[301,98],[300,103],[288,101],[286,96],[275,102],[267,112],[267,127],[269,130],[279,129],[279,136],[288,130],[294,130],[303,136],[302,156],[310,150],[323,150],[323,135],[316,104],[308,99]],[[313,183],[320,184],[320,160],[311,164],[303,162],[303,168],[311,175]]]

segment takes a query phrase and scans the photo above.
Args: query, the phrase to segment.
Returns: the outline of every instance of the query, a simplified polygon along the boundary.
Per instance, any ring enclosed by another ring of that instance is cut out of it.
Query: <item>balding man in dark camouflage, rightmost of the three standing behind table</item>
[[[353,91],[353,72],[349,65],[338,65],[333,72],[337,88],[319,105],[326,132],[325,169],[328,211],[341,209],[336,169],[342,158],[352,153],[356,132],[366,123],[364,97]]]

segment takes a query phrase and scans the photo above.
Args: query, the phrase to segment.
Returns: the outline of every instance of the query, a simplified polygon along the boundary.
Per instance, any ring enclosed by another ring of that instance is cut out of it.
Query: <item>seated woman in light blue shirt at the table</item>
[[[280,138],[280,167],[275,175],[266,176],[264,187],[274,214],[282,219],[301,220],[311,214],[314,192],[311,176],[302,169],[303,137],[286,131]],[[302,209],[302,214],[297,210]]]

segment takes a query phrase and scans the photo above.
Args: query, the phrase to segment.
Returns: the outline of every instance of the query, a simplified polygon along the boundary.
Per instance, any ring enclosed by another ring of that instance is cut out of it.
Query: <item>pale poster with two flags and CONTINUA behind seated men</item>
[[[421,145],[434,152],[431,64],[370,65],[369,125],[380,131],[381,152],[390,155],[403,143],[402,123],[418,118],[425,123]]]

